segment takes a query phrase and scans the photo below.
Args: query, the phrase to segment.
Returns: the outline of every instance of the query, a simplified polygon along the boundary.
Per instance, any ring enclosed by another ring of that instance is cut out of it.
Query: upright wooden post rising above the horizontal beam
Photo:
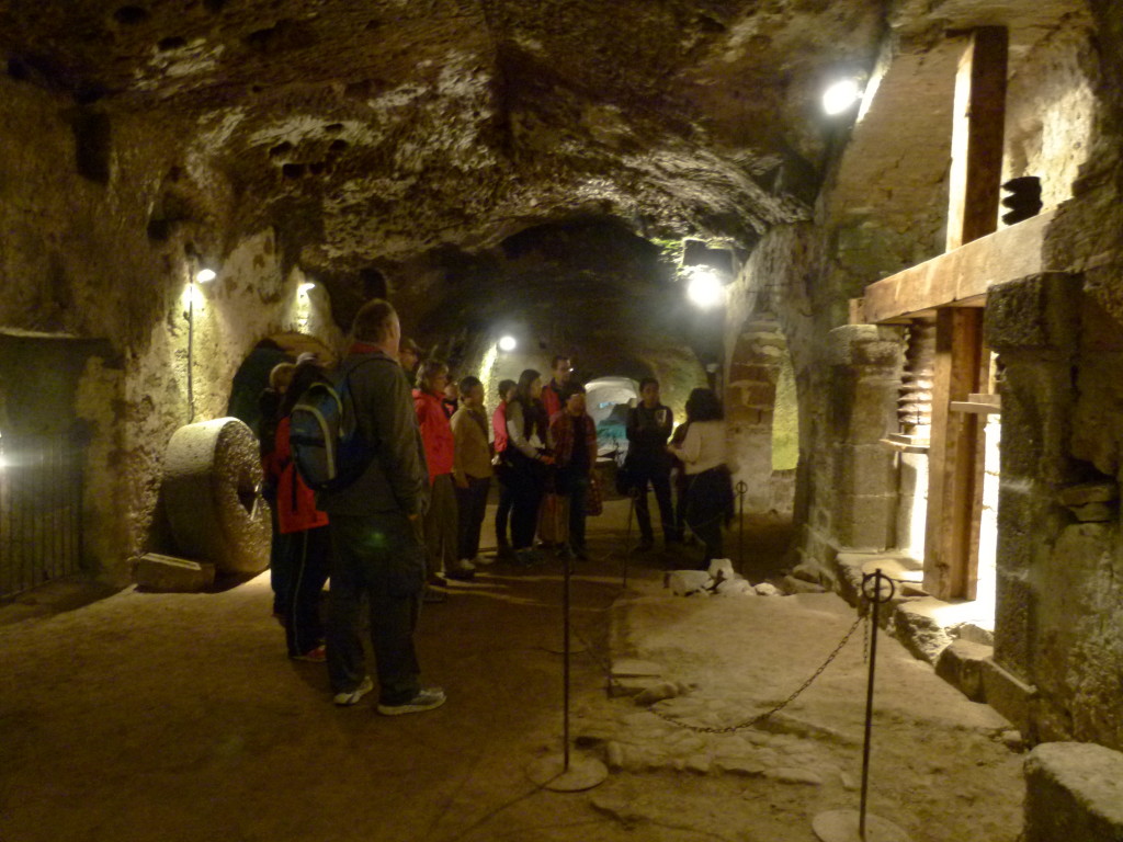
[[[998,227],[1007,52],[1006,29],[986,26],[971,33],[959,60],[948,180],[948,251]]]

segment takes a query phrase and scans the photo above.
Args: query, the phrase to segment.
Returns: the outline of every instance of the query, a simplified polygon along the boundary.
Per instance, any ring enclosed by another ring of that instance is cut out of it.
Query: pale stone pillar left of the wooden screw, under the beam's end
[[[839,547],[885,550],[896,542],[895,452],[882,443],[896,430],[904,359],[903,330],[847,324],[828,336],[831,531]]]

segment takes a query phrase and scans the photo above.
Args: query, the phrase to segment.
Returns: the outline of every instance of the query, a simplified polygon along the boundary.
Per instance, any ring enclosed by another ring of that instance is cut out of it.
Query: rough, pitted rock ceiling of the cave
[[[579,214],[741,245],[803,218],[820,88],[869,68],[882,7],[0,0],[0,47],[91,110],[184,125],[185,172],[219,172],[246,230],[346,266]]]

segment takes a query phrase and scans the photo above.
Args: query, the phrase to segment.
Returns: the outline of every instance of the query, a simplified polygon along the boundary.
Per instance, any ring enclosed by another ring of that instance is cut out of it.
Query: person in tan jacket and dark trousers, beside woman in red
[[[483,384],[476,377],[465,377],[459,385],[460,409],[453,415],[451,422],[456,441],[453,482],[459,509],[460,567],[474,569],[475,565],[486,564],[480,556],[480,528],[487,509],[492,459]]]

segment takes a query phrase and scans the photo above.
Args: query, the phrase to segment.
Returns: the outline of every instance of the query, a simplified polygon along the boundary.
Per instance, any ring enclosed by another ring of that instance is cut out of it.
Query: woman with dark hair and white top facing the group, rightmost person
[[[724,418],[714,391],[695,388],[686,400],[686,437],[681,445],[670,446],[670,452],[685,466],[686,524],[705,544],[703,568],[712,559],[723,558],[721,529],[733,514]]]

